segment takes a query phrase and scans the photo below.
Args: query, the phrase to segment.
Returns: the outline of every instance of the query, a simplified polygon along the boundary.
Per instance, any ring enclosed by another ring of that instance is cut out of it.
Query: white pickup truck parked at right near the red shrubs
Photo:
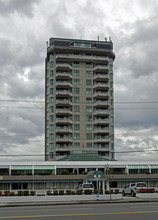
[[[138,193],[142,188],[147,188],[147,184],[145,182],[129,183],[123,188],[122,195],[136,196],[136,193]]]

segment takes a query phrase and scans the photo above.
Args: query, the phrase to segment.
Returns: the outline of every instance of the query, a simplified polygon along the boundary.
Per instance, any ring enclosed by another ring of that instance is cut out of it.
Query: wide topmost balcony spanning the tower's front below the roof
[[[105,56],[90,56],[90,55],[74,55],[74,54],[57,54],[56,55],[56,60],[68,60],[68,61],[74,61],[74,60],[79,60],[79,61],[89,61],[89,62],[106,62],[108,64],[109,58]]]

